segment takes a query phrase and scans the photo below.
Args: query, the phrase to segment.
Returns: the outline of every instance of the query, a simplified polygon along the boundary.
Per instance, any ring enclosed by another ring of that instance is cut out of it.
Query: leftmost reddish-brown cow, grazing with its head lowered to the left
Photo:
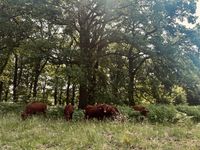
[[[42,102],[32,102],[26,105],[25,110],[22,112],[22,120],[33,114],[43,113],[46,116],[47,105]]]

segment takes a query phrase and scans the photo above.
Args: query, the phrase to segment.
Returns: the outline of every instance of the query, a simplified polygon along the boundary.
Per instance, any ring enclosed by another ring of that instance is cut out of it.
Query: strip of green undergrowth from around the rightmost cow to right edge
[[[122,116],[129,121],[141,121],[145,118],[139,112],[134,111],[129,106],[118,106]],[[200,122],[200,107],[187,105],[149,105],[147,119],[152,123],[182,123],[191,124],[191,121]]]

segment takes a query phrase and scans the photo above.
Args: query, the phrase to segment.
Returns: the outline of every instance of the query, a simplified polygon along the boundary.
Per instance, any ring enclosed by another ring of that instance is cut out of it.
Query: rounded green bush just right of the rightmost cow
[[[178,121],[177,110],[173,105],[150,105],[148,109],[150,122],[175,123]]]

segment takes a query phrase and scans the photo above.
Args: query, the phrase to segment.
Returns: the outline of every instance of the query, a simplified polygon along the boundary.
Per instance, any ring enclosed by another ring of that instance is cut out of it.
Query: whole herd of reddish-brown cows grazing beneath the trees
[[[141,105],[135,105],[132,107],[135,111],[140,112],[141,115],[147,116],[148,110]],[[72,104],[67,104],[64,108],[64,117],[66,121],[72,120],[74,106]],[[21,113],[22,120],[25,120],[27,117],[35,115],[35,114],[43,114],[46,116],[47,105],[42,102],[31,102],[26,105],[24,111]],[[120,115],[117,107],[109,104],[95,104],[95,105],[87,105],[84,108],[85,119],[114,119],[118,115]]]

